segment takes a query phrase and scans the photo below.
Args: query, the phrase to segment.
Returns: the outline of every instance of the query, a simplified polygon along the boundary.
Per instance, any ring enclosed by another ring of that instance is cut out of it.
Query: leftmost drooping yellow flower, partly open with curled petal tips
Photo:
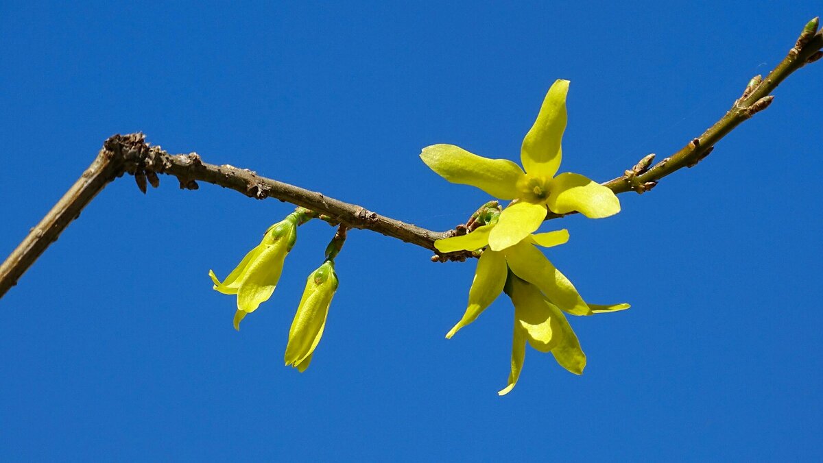
[[[214,282],[213,289],[222,294],[237,294],[235,330],[239,331],[240,321],[247,314],[253,313],[260,303],[272,297],[286,254],[297,239],[297,225],[301,220],[304,220],[303,216],[295,212],[269,227],[263,234],[263,241],[243,257],[222,283],[214,271],[208,272]]]

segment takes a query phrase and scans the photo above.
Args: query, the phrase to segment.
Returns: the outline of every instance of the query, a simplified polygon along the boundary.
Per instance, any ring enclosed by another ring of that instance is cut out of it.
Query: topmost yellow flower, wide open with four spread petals
[[[493,251],[520,243],[540,227],[551,210],[557,214],[579,211],[591,219],[620,211],[620,201],[610,189],[580,174],[557,175],[560,168],[560,141],[566,126],[566,94],[569,81],[558,80],[543,100],[537,120],[520,150],[523,168],[510,160],[491,160],[459,146],[432,145],[421,159],[452,183],[480,188],[493,197],[517,200],[500,215],[489,235]]]

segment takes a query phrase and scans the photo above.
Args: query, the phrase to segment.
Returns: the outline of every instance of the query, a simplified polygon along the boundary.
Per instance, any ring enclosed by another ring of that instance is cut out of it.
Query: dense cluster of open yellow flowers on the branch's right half
[[[428,146],[421,153],[423,162],[449,182],[512,200],[502,211],[496,202],[487,203],[472,215],[480,219],[474,224],[479,227],[435,242],[440,252],[480,253],[466,312],[447,338],[476,320],[501,292],[514,303],[511,373],[501,396],[518,381],[527,343],[540,352],[551,352],[571,373],[583,373],[586,356],[563,313],[592,315],[629,308],[627,303],[586,303],[570,280],[536,248],[551,248],[569,239],[565,229],[533,234],[548,211],[577,211],[589,218],[620,211],[620,201],[610,189],[580,174],[555,175],[560,168],[568,90],[569,81],[558,80],[546,94],[537,120],[523,139],[520,158],[525,172],[510,160],[483,158],[453,145]]]

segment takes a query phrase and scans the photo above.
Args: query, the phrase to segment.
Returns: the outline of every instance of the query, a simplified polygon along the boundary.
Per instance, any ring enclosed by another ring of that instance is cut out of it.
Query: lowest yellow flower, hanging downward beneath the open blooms
[[[504,291],[514,303],[514,336],[512,342],[512,370],[509,385],[497,394],[508,394],[517,384],[526,343],[540,352],[551,352],[560,366],[574,374],[583,374],[586,354],[580,348],[577,336],[557,306],[549,302],[535,285],[509,274]]]

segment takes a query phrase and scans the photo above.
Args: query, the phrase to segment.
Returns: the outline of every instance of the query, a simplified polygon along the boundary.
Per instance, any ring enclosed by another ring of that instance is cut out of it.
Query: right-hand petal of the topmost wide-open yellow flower
[[[620,200],[614,192],[583,175],[570,172],[551,181],[546,204],[557,214],[578,211],[589,219],[602,219],[620,212]]]

